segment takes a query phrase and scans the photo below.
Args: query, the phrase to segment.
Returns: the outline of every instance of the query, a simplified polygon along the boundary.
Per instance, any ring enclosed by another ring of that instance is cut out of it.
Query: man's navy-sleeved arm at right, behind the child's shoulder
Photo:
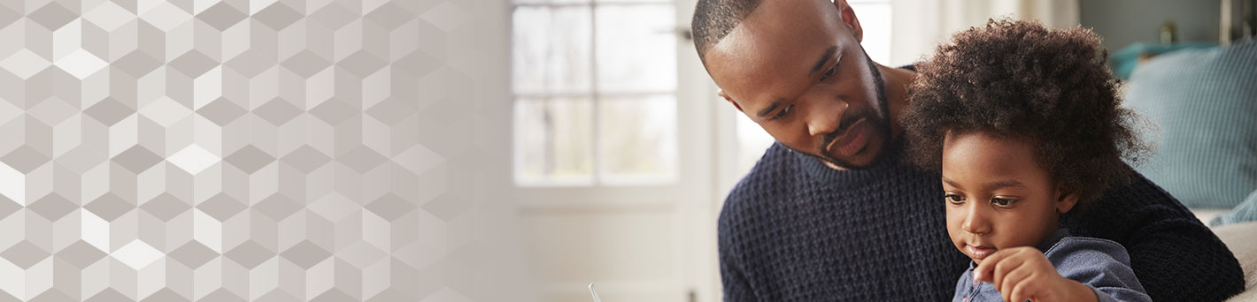
[[[1143,175],[1062,223],[1076,236],[1121,243],[1153,301],[1222,301],[1243,291],[1231,249]]]

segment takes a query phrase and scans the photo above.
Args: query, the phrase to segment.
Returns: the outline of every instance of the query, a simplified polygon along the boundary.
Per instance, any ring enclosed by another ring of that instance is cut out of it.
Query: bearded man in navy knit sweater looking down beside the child
[[[915,73],[866,56],[845,0],[699,0],[693,33],[720,96],[777,139],[720,213],[725,301],[948,299],[967,259],[939,175],[899,159]],[[1155,301],[1243,289],[1226,246],[1141,175],[1061,226],[1126,247]]]

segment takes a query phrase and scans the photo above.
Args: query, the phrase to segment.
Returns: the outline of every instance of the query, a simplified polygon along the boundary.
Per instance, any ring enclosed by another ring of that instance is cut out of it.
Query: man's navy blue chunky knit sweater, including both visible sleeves
[[[899,160],[836,170],[773,144],[719,219],[725,301],[947,301],[969,263],[947,234],[939,175]],[[1062,227],[1121,243],[1154,301],[1221,301],[1239,263],[1178,200],[1139,175]]]

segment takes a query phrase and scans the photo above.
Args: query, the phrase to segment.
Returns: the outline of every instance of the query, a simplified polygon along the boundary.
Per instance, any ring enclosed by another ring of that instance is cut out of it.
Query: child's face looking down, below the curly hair
[[[1038,246],[1076,203],[1035,160],[1026,139],[948,134],[943,190],[952,243],[980,263],[1002,248]]]

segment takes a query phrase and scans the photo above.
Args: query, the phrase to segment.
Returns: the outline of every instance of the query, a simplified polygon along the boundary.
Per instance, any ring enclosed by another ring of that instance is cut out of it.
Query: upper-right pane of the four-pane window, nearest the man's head
[[[598,90],[676,89],[675,9],[664,5],[598,5]]]

